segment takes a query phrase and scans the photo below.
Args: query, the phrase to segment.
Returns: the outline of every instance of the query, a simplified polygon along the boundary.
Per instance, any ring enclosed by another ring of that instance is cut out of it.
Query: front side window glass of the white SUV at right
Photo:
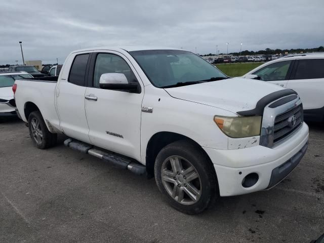
[[[292,60],[275,62],[269,64],[252,74],[258,75],[260,80],[263,81],[274,81],[274,80],[286,80],[289,66]]]

